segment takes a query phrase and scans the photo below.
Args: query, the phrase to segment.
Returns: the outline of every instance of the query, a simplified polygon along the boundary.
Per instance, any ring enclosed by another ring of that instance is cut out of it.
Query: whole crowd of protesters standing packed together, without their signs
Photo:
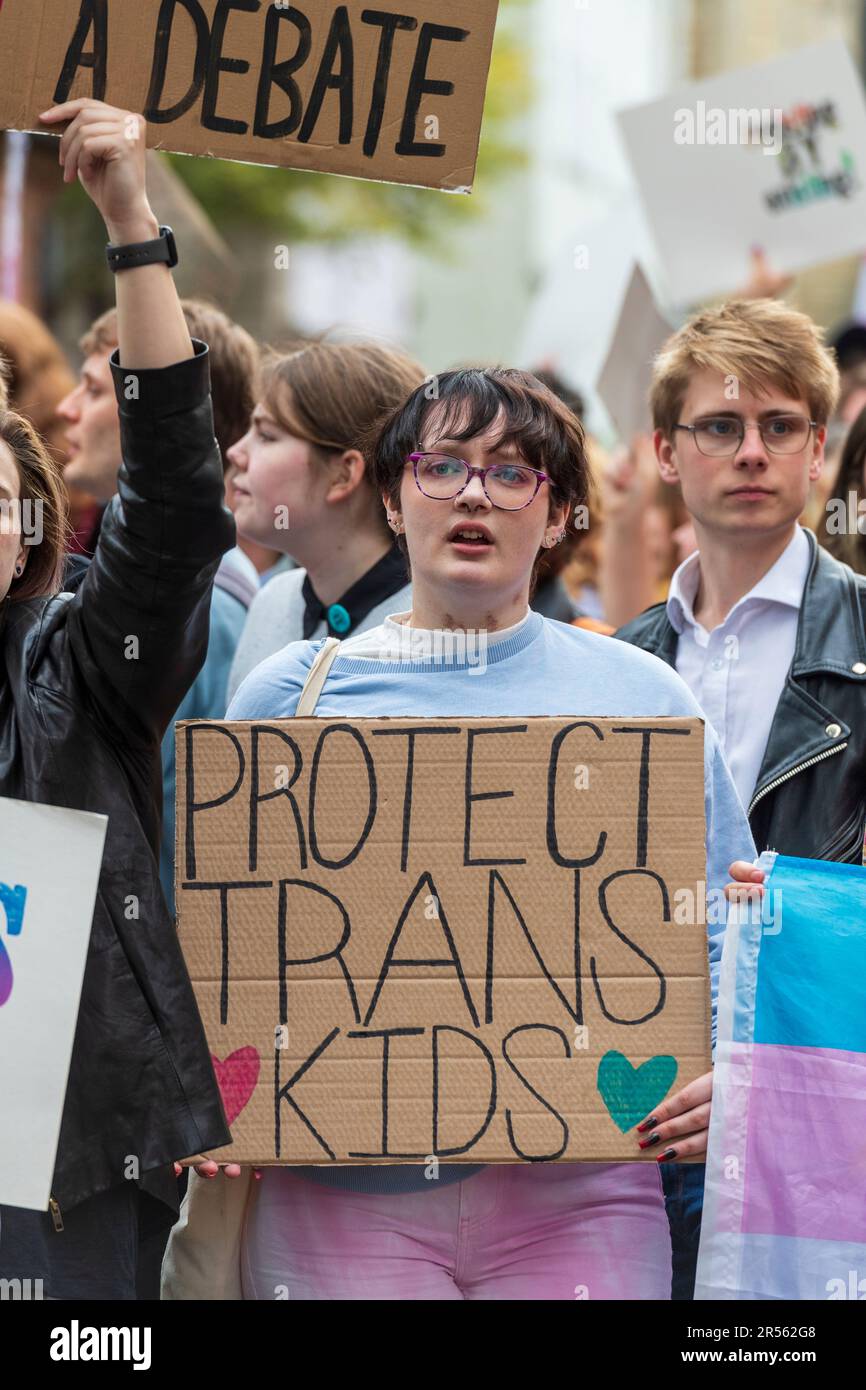
[[[692,1300],[713,1070],[631,1118],[634,1162],[232,1161],[178,937],[177,899],[203,895],[178,888],[175,726],[698,719],[708,894],[760,912],[766,851],[863,866],[866,329],[826,335],[756,253],[655,354],[646,431],[605,449],[549,363],[278,350],[181,299],[145,118],[76,97],[42,121],[117,302],[78,375],[0,303],[0,796],[107,827],[50,1200],[0,1205],[0,1277],[92,1301]],[[716,1047],[724,915],[701,930]]]

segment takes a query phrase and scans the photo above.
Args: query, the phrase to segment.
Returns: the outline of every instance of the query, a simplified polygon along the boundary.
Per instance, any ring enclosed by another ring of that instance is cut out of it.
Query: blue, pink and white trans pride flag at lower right
[[[866,869],[730,912],[695,1298],[866,1300]]]

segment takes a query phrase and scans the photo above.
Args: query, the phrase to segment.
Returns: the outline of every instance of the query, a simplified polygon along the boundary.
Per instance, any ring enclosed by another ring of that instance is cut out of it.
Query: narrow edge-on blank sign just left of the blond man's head
[[[670,334],[670,324],[656,309],[646,275],[641,265],[635,265],[596,382],[596,391],[626,443],[635,434],[652,428],[648,403],[652,363]]]

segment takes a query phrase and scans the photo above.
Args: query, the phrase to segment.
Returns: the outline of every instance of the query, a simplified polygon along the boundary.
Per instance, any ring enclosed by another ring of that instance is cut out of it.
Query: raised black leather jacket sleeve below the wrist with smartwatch
[[[211,584],[235,543],[214,438],[207,348],[172,367],[111,357],[121,423],[118,493],[70,600],[68,641],[100,716],[160,739],[207,655]]]

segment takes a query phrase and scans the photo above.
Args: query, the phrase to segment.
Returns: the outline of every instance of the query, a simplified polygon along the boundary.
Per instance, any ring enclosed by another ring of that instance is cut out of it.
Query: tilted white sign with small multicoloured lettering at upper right
[[[738,289],[866,245],[866,100],[841,40],[702,79],[619,115],[671,297]]]

